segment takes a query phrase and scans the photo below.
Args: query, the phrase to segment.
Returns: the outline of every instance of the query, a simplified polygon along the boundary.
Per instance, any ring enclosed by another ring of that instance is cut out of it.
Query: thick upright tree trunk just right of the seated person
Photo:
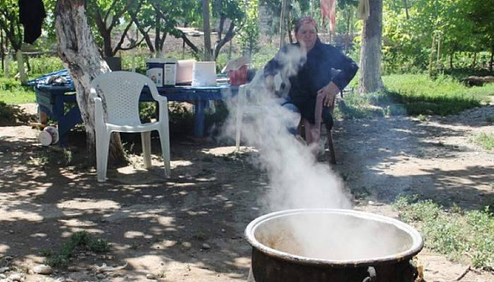
[[[359,92],[382,90],[382,0],[369,0],[370,16],[363,23]]]

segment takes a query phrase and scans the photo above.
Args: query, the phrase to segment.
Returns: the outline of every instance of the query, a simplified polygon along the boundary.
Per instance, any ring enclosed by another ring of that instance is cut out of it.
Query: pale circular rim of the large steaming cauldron
[[[399,230],[402,230],[405,233],[407,233],[411,237],[413,243],[411,247],[409,247],[407,250],[392,255],[373,257],[371,259],[337,260],[337,259],[316,259],[312,257],[292,255],[289,254],[288,252],[282,252],[273,249],[271,247],[267,247],[266,245],[263,245],[255,238],[255,229],[258,228],[258,226],[260,226],[265,221],[269,221],[270,219],[275,219],[283,216],[294,215],[294,214],[344,214],[347,216],[356,216],[361,219],[369,219],[369,220],[379,221],[388,224],[391,223]],[[418,231],[416,231],[415,228],[413,228],[409,224],[406,224],[397,219],[392,219],[387,216],[381,216],[379,214],[371,214],[368,212],[354,211],[351,209],[285,209],[279,212],[272,212],[270,214],[259,216],[258,218],[251,221],[251,223],[249,223],[248,226],[246,227],[244,235],[247,242],[254,249],[258,250],[259,252],[262,252],[265,255],[268,255],[270,257],[275,257],[277,259],[282,259],[287,262],[293,262],[296,264],[306,264],[306,265],[321,266],[321,267],[323,266],[330,266],[335,268],[348,267],[348,266],[361,267],[361,266],[372,266],[376,264],[400,262],[403,261],[404,259],[410,259],[414,255],[418,254],[418,252],[420,252],[423,248],[422,236],[420,235],[420,233],[418,233]]]

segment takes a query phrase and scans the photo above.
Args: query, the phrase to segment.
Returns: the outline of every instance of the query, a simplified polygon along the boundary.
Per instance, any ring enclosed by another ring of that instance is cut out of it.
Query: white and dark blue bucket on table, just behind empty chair
[[[174,86],[176,82],[176,59],[146,59],[146,75],[157,87]]]

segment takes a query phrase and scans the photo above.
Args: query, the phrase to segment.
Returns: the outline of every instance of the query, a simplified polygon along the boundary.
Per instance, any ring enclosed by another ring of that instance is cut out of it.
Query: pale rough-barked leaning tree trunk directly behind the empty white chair
[[[77,103],[85,126],[88,161],[95,164],[95,104],[90,99],[90,82],[110,69],[100,56],[92,37],[84,0],[58,0],[55,28],[59,56],[76,87]],[[110,139],[109,159],[124,159],[118,134],[113,134]]]

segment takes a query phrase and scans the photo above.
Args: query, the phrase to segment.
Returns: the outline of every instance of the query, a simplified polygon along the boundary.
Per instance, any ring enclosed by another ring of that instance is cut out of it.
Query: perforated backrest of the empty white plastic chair
[[[139,97],[143,87],[156,87],[145,75],[127,71],[103,73],[91,82],[91,87],[102,98],[106,123],[140,125]]]

